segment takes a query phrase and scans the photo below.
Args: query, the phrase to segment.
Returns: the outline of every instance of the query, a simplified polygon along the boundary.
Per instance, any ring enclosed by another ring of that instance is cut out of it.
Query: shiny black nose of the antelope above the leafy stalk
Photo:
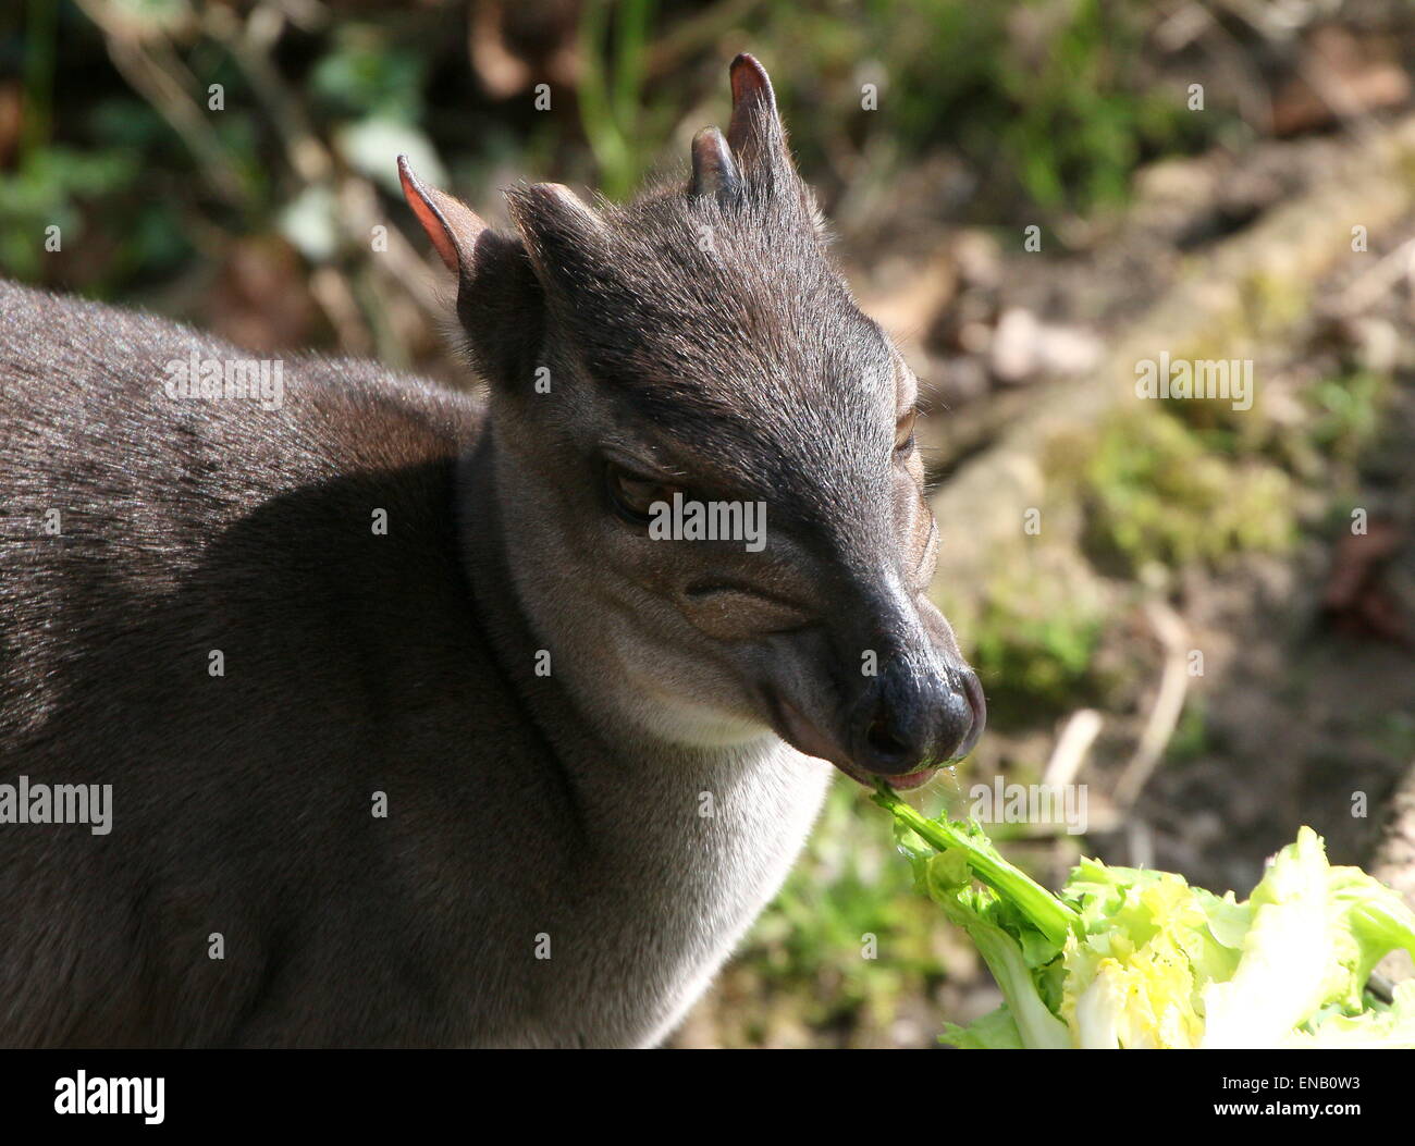
[[[972,669],[945,675],[891,666],[856,705],[855,763],[876,775],[907,775],[972,751],[988,720]]]

